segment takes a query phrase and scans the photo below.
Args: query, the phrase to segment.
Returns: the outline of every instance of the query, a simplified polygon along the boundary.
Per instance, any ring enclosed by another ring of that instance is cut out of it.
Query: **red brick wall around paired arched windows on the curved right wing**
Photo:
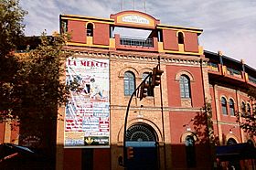
[[[230,115],[229,99],[232,99],[235,103],[235,114],[241,112],[241,101],[245,103],[251,103],[248,95],[236,87],[232,87],[229,84],[220,85],[212,84],[210,88],[212,96],[212,112],[214,122],[214,133],[219,139],[219,144],[226,145],[229,138],[235,139],[237,143],[246,143],[251,137],[240,130],[237,117]],[[214,101],[215,96],[215,101]],[[227,100],[228,115],[223,114],[221,109],[221,97]],[[216,104],[215,104],[216,103]],[[243,121],[240,119],[240,121]],[[253,139],[252,139],[253,140]]]

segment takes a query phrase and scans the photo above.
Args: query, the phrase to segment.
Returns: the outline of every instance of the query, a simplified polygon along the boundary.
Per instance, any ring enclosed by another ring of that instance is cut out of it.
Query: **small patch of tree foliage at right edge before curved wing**
[[[240,122],[240,128],[246,133],[256,136],[256,89],[250,89],[248,96],[252,102],[252,112],[240,112],[237,114],[238,122]]]

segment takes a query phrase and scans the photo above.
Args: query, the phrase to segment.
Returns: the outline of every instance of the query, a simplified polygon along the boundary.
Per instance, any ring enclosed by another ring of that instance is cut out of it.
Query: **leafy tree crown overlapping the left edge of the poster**
[[[20,58],[21,69],[14,77],[12,116],[23,121],[54,121],[58,106],[68,100],[64,73],[70,53],[63,49],[66,37],[40,38],[41,44]]]

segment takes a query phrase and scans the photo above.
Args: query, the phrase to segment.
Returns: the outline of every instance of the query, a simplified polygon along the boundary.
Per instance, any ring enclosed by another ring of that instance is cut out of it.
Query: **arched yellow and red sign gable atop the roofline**
[[[139,11],[122,11],[111,15],[114,25],[120,27],[143,27],[155,29],[160,20]]]

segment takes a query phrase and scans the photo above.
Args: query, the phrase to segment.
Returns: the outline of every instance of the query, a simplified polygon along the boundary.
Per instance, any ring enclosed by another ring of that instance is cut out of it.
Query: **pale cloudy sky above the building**
[[[123,0],[123,9],[133,9],[133,0]],[[144,12],[144,0],[134,0],[135,10]],[[20,0],[28,11],[26,35],[48,35],[59,31],[59,15],[109,18],[122,10],[122,0]],[[146,0],[147,14],[161,24],[204,30],[199,43],[204,49],[240,60],[256,69],[255,0]]]

